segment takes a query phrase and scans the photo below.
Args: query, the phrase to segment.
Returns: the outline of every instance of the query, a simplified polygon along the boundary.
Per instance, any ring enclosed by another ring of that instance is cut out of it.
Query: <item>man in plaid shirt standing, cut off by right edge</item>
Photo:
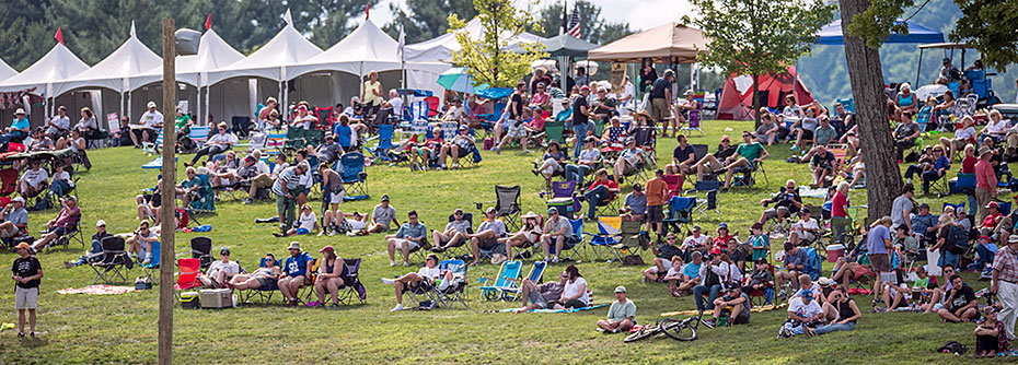
[[[997,318],[1004,322],[1007,339],[1014,341],[1015,318],[1018,317],[1018,236],[1007,237],[1007,246],[997,250],[993,260],[990,292],[997,294],[1004,310]]]

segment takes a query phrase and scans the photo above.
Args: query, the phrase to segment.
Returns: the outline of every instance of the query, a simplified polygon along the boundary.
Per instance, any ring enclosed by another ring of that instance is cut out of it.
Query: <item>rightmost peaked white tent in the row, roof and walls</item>
[[[386,87],[402,87],[400,70],[407,70],[407,87],[440,91],[435,81],[438,75],[449,69],[442,62],[402,62],[400,60],[400,44],[378,27],[371,20],[366,21],[345,38],[326,49],[319,56],[287,68],[288,80],[316,71],[339,71],[357,76],[333,76],[332,83],[338,83],[339,95],[333,95],[328,101],[343,101],[346,96],[359,94],[362,90],[362,79],[370,71],[397,71],[393,75],[383,76]],[[396,84],[394,84],[396,83]],[[320,83],[321,84],[321,83]],[[335,91],[335,90],[334,90]],[[333,93],[337,94],[337,93]]]

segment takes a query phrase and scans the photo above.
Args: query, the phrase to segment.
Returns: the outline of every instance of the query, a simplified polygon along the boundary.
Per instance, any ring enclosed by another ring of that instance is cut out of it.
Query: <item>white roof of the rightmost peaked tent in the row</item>
[[[365,75],[371,70],[381,72],[406,68],[439,73],[449,69],[448,64],[440,62],[401,62],[398,48],[396,40],[368,20],[320,55],[289,66],[286,80],[324,70]]]

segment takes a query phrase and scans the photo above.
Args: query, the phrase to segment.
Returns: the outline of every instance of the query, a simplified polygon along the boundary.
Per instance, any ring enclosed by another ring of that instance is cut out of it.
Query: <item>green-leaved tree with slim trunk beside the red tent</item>
[[[753,114],[760,123],[757,82],[761,74],[786,72],[809,54],[814,34],[826,24],[833,5],[821,0],[691,0],[699,17],[683,22],[710,39],[697,60],[728,74],[753,76]]]

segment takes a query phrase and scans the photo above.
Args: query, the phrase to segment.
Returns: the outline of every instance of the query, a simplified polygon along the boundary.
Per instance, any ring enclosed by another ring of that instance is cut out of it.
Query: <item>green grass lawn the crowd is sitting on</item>
[[[720,134],[739,140],[739,132],[752,128],[751,122],[705,122],[706,137],[694,137],[692,143],[706,143],[715,150]],[[660,166],[671,160],[675,140],[660,138],[658,155]],[[760,216],[756,203],[777,190],[788,178],[808,182],[806,165],[784,162],[791,152],[788,145],[770,149],[766,163],[768,182],[756,187],[734,188],[719,195],[724,221],[743,237],[751,222]],[[91,235],[91,226],[99,219],[108,223],[113,233],[130,232],[137,227],[134,196],[138,189],[150,187],[157,172],[140,166],[152,157],[140,150],[105,149],[91,151],[94,164],[91,172],[81,175],[79,197],[83,212],[82,226]],[[481,167],[461,170],[410,173],[406,167],[387,165],[368,168],[369,201],[342,205],[344,211],[367,212],[384,192],[392,197],[401,221],[406,211],[417,210],[431,228],[443,227],[454,208],[474,212],[474,201],[494,200],[495,184],[521,185],[523,210],[540,212],[546,205],[539,197],[543,181],[530,174],[534,154],[522,154],[518,149],[501,155],[484,154]],[[177,167],[183,176],[182,156]],[[624,192],[629,188],[624,187]],[[1002,195],[1003,197],[1003,195]],[[852,191],[856,204],[866,202],[865,189]],[[938,211],[942,199],[917,196]],[[964,201],[953,196],[952,202]],[[819,199],[808,199],[819,204]],[[314,203],[317,207],[317,202]],[[317,210],[317,208],[316,208]],[[41,229],[56,215],[56,210],[33,212],[31,232]],[[189,250],[188,240],[196,235],[213,239],[215,251],[229,247],[233,259],[248,270],[257,267],[267,251],[285,255],[290,238],[271,236],[275,226],[254,225],[256,216],[275,215],[275,205],[268,201],[243,205],[240,201],[217,203],[217,213],[206,215],[203,223],[211,224],[205,234],[180,233],[176,251]],[[703,221],[706,231],[713,232],[719,221]],[[475,222],[477,223],[477,222]],[[594,231],[595,225],[587,224]],[[470,309],[406,310],[390,313],[394,305],[392,286],[383,285],[379,278],[400,275],[416,268],[389,267],[389,258],[381,236],[367,237],[300,237],[305,250],[314,252],[324,245],[333,245],[342,257],[363,258],[360,274],[368,289],[368,304],[339,310],[285,308],[278,299],[269,306],[242,306],[225,310],[184,310],[174,313],[175,360],[188,363],[666,363],[681,361],[695,364],[730,363],[949,363],[959,358],[941,355],[935,349],[949,340],[974,348],[974,325],[942,323],[936,315],[912,313],[864,313],[854,332],[835,332],[819,338],[776,340],[784,310],[753,314],[752,322],[734,328],[706,329],[701,327],[701,339],[676,342],[667,338],[637,343],[623,343],[622,335],[604,335],[594,331],[594,322],[604,317],[608,308],[571,315],[510,315],[483,314],[483,309],[502,309],[519,303],[488,303],[478,301],[472,291]],[[772,243],[780,247],[780,242]],[[157,361],[158,291],[143,291],[125,295],[89,296],[59,295],[55,291],[81,287],[91,282],[93,272],[85,267],[65,269],[62,261],[77,259],[80,247],[51,249],[39,255],[45,270],[39,297],[39,337],[16,339],[15,331],[3,331],[0,339],[0,363],[3,364],[137,364]],[[217,256],[218,257],[218,256]],[[15,258],[10,251],[0,252],[0,262],[9,264]],[[644,254],[650,261],[650,252]],[[529,268],[529,262],[524,263]],[[689,296],[673,298],[661,284],[640,283],[645,267],[622,267],[618,263],[582,262],[580,272],[590,282],[598,303],[609,303],[612,290],[625,285],[636,303],[637,320],[653,321],[666,311],[694,309]],[[565,268],[554,264],[545,278],[556,278]],[[824,275],[830,275],[830,266]],[[470,269],[471,285],[478,276],[491,278],[498,268],[485,264]],[[140,274],[136,268],[134,280]],[[967,281],[976,290],[986,286],[975,282],[971,274]],[[278,294],[276,298],[278,298]],[[16,322],[12,308],[13,291],[0,291],[0,321]],[[869,297],[858,297],[864,311]]]

